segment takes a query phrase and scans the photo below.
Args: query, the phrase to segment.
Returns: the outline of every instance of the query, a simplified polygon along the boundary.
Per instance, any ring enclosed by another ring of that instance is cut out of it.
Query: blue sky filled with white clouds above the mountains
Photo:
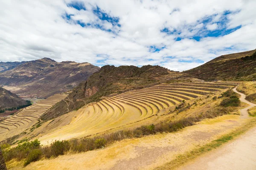
[[[184,71],[256,48],[256,0],[2,0],[0,61]]]

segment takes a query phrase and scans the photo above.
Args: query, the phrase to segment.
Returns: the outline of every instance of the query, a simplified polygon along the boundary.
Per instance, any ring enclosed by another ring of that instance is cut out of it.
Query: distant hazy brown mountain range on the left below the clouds
[[[71,90],[99,69],[88,62],[43,58],[0,73],[0,85],[15,94],[49,97]]]

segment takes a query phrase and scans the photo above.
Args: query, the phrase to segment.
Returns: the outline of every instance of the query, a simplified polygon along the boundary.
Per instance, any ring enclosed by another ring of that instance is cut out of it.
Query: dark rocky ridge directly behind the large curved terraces
[[[41,119],[53,119],[81,108],[87,103],[99,101],[104,96],[149,87],[182,75],[180,72],[169,71],[158,65],[145,65],[141,68],[133,65],[119,67],[105,65],[87,81],[81,82],[66,99],[47,111]]]

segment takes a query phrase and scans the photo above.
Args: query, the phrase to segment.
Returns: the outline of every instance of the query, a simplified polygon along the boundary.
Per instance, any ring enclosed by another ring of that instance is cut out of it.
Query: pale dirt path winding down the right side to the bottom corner
[[[256,104],[245,100],[246,96],[236,91],[236,88],[233,91],[241,95],[241,102],[250,105],[240,110],[241,118],[247,118],[249,116],[247,110]],[[180,167],[180,170],[256,170],[255,141],[256,127],[240,136],[239,139]]]

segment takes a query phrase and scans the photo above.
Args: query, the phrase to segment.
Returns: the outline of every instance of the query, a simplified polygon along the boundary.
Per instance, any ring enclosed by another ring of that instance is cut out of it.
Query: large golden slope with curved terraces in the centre
[[[141,90],[128,91],[102,99],[78,110],[70,124],[39,138],[46,144],[52,140],[79,138],[111,130],[164,114],[181,102],[211,92],[234,87],[231,83],[160,84]]]

